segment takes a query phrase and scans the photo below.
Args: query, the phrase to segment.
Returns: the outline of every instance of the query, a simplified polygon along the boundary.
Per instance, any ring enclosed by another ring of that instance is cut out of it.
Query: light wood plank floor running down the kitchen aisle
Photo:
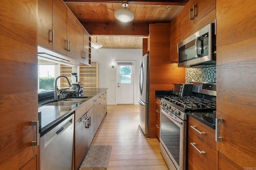
[[[112,145],[107,170],[168,170],[156,138],[139,127],[139,105],[108,105],[92,145]]]

